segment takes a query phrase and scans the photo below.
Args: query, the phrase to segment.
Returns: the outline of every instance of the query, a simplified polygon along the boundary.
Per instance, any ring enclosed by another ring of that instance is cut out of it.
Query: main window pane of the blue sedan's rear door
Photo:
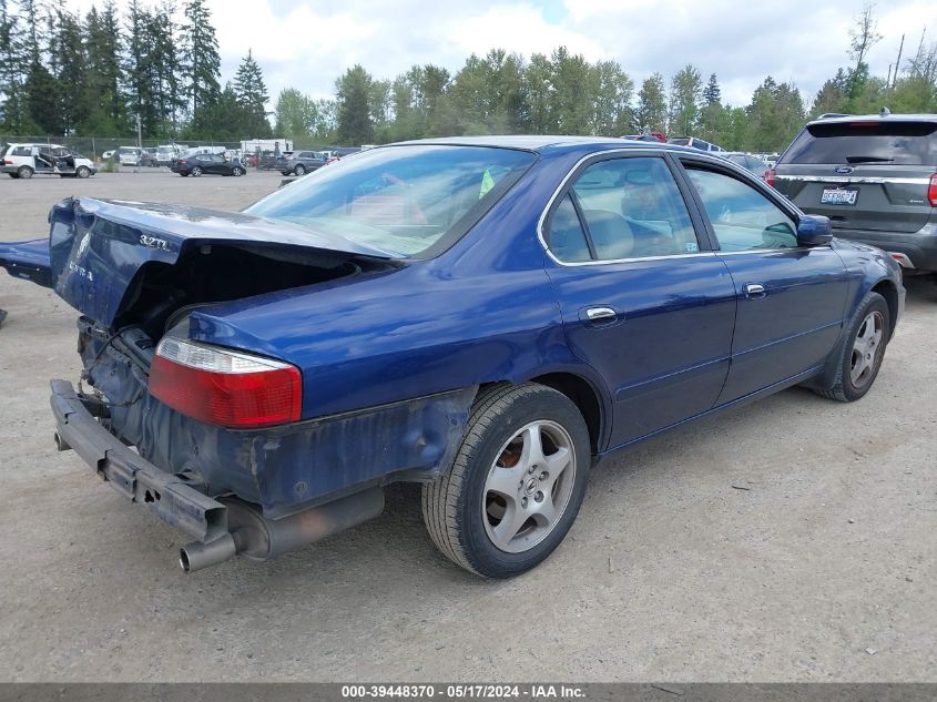
[[[599,261],[695,253],[690,214],[660,157],[601,161],[573,186]]]

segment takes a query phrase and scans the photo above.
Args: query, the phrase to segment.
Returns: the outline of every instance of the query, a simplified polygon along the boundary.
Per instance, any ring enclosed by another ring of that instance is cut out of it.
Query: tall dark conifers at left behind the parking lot
[[[176,19],[179,18],[179,19]],[[248,50],[221,85],[205,0],[114,0],[83,17],[0,0],[0,132],[240,140],[271,134],[263,72]]]

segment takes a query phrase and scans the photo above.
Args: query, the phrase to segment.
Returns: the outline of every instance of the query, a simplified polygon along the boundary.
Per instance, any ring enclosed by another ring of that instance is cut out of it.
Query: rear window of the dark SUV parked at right
[[[812,124],[778,163],[937,165],[937,123]]]

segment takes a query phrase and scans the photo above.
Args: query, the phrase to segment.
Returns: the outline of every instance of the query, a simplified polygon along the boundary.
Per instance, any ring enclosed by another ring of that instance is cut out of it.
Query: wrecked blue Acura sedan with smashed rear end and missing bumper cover
[[[598,459],[797,384],[862,398],[905,298],[889,256],[751,173],[614,139],[395,144],[243,213],[78,199],[50,222],[0,265],[81,313],[59,448],[187,532],[186,571],[411,481],[449,559],[524,572]]]

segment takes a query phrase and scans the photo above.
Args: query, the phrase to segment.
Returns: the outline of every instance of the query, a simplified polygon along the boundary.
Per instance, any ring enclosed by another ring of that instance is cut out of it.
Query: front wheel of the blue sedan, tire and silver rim
[[[846,343],[835,359],[833,387],[817,395],[839,403],[853,403],[865,396],[878,377],[890,332],[888,303],[878,293],[868,293],[846,329]]]

